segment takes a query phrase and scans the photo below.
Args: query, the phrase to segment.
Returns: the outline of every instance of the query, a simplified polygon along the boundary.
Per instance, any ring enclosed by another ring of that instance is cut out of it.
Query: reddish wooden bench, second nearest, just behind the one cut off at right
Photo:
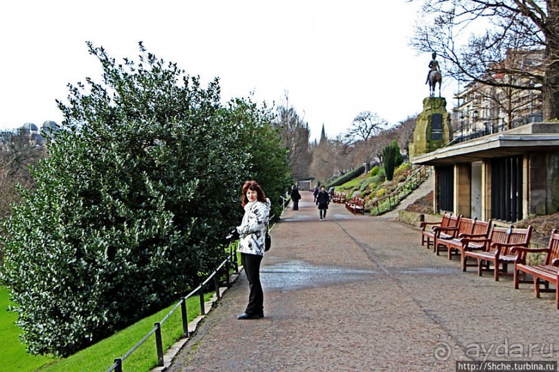
[[[526,229],[514,228],[512,225],[511,227],[493,226],[489,238],[479,240],[485,241],[483,250],[465,250],[462,270],[465,271],[468,257],[477,259],[477,274],[480,277],[483,275],[483,270],[490,270],[490,263],[493,263],[493,277],[498,281],[499,272],[502,275],[508,275],[508,264],[514,263],[516,260],[516,254],[511,252],[511,249],[513,247],[527,248],[531,235],[532,226],[528,226]],[[485,263],[485,269],[483,269],[483,263]],[[501,265],[503,270],[499,271]]]

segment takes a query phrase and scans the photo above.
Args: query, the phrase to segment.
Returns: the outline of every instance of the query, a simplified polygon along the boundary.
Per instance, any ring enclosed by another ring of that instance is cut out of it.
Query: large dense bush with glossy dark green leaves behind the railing
[[[4,225],[0,275],[31,353],[69,355],[177,299],[223,257],[243,181],[276,196],[289,179],[265,108],[220,103],[217,79],[204,89],[142,45],[123,64],[89,51],[103,80],[69,86]]]

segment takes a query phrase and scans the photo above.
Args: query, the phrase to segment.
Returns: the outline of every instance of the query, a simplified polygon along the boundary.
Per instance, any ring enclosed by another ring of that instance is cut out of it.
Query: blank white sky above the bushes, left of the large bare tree
[[[406,0],[53,0],[0,6],[0,129],[59,124],[66,84],[100,66],[85,41],[136,59],[138,41],[202,82],[220,77],[222,99],[290,104],[328,137],[361,111],[395,124],[422,109],[429,53],[409,46],[417,3]],[[443,71],[444,72],[444,71]],[[443,84],[447,110],[454,85]]]

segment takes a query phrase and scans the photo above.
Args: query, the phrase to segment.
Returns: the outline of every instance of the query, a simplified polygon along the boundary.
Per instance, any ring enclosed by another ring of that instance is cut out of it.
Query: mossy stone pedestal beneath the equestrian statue
[[[452,140],[450,113],[446,111],[446,98],[427,97],[423,112],[416,121],[414,142],[409,144],[409,158],[440,149]]]

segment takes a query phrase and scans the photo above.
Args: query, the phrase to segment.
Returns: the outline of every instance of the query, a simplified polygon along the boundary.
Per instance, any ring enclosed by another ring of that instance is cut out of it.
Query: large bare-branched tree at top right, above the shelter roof
[[[436,51],[446,62],[446,75],[459,81],[542,91],[544,120],[559,118],[559,1],[410,1],[423,2],[423,23],[416,27],[411,44],[423,52]],[[470,26],[476,25],[485,32],[463,41]],[[538,60],[542,53],[541,64],[522,63]],[[503,75],[516,78],[499,79]]]

